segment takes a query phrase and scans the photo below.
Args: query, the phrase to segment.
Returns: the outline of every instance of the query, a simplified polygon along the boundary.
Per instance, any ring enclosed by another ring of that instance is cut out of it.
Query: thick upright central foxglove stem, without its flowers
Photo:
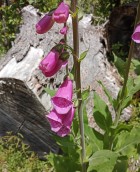
[[[84,123],[83,123],[83,114],[82,114],[82,95],[81,95],[81,77],[80,77],[80,63],[78,62],[79,58],[79,32],[78,32],[78,14],[76,14],[77,0],[71,0],[72,12],[75,14],[72,17],[72,26],[73,26],[73,60],[75,66],[75,83],[77,90],[77,99],[78,99],[78,117],[80,124],[80,134],[81,134],[81,162],[82,162],[82,172],[86,172],[86,166],[84,163],[85,160],[85,137],[84,137]]]

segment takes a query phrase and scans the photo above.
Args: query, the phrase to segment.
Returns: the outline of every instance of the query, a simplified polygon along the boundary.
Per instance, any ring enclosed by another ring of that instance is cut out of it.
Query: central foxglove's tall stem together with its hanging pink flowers
[[[76,13],[77,10],[77,1],[72,0],[72,12]],[[69,17],[69,6],[63,1],[59,4],[58,8],[54,10],[53,14],[46,15],[42,18],[36,25],[36,32],[39,34],[47,32],[52,26],[54,21],[56,23],[64,23],[64,27],[60,30],[60,33],[64,35],[66,40],[66,34],[68,27],[66,26],[66,21]],[[61,48],[60,44],[63,44],[60,41],[59,45],[56,45],[49,54],[41,61],[39,68],[46,77],[53,76],[62,66],[67,65],[67,59],[69,54],[67,51]],[[78,38],[78,15],[73,17],[73,59],[75,66],[75,83],[78,99],[78,116],[80,124],[80,133],[81,133],[81,161],[82,169],[85,171],[84,159],[85,159],[85,141],[84,141],[84,126],[83,126],[83,117],[82,109],[82,97],[81,97],[81,79],[80,79],[80,63],[77,62],[79,58],[79,38]],[[60,52],[60,50],[61,52]],[[68,73],[68,69],[67,69]],[[70,133],[70,127],[72,120],[74,118],[75,108],[72,103],[72,81],[67,77],[64,83],[58,89],[56,95],[51,99],[53,110],[47,116],[48,121],[50,122],[52,131],[56,132],[57,135],[64,137]]]

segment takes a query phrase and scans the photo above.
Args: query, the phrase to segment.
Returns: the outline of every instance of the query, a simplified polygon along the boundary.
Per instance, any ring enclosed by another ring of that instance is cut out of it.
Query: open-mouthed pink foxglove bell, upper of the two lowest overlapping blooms
[[[57,113],[66,114],[69,112],[73,106],[72,93],[72,81],[67,77],[63,84],[59,87],[56,95],[51,98],[52,105]]]

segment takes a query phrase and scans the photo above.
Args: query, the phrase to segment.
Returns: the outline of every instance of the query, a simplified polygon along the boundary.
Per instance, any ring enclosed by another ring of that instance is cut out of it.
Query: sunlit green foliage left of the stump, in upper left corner
[[[42,12],[56,8],[60,0],[7,0],[0,4],[0,56],[5,54],[19,32],[22,23],[21,10],[26,5],[33,5]],[[7,2],[7,3],[6,3]]]

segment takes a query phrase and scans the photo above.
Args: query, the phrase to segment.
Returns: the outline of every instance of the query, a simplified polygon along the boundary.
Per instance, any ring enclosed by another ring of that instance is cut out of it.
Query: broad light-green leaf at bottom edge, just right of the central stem
[[[95,152],[89,159],[87,172],[112,172],[118,155],[110,150]]]

